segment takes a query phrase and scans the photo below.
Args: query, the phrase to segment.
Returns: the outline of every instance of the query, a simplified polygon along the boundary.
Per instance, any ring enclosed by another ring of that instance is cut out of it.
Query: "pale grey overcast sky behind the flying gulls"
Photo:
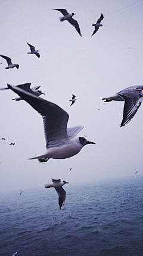
[[[62,14],[52,8],[75,13],[82,37],[69,22],[61,23]],[[101,13],[103,26],[91,37],[91,25]],[[45,151],[42,118],[26,102],[12,101],[17,97],[13,91],[1,91],[0,137],[6,138],[0,140],[1,192],[43,187],[51,177],[72,185],[143,174],[143,106],[120,128],[124,103],[101,100],[143,85],[142,13],[142,0],[1,0],[0,54],[20,67],[5,70],[7,62],[1,58],[0,87],[41,85],[42,98],[69,113],[68,127],[84,125],[79,135],[96,143],[69,159],[50,159],[44,165],[28,160]],[[27,55],[26,42],[40,50],[40,59]],[[77,101],[70,107],[71,94]]]

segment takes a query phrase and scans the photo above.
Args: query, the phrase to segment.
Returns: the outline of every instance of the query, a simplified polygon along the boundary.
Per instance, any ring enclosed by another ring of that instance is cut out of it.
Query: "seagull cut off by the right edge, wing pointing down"
[[[132,120],[133,116],[135,116],[139,107],[141,106],[143,100],[143,86],[135,85],[130,86],[126,89],[123,89],[117,94],[112,95],[108,98],[103,98],[105,102],[109,101],[125,101],[124,110],[123,110],[123,120],[120,124],[120,127],[125,126]]]

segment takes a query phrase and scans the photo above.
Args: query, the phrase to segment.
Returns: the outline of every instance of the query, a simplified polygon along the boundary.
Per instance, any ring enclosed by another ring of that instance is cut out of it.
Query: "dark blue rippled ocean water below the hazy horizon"
[[[142,256],[143,177],[1,194],[0,255]]]

